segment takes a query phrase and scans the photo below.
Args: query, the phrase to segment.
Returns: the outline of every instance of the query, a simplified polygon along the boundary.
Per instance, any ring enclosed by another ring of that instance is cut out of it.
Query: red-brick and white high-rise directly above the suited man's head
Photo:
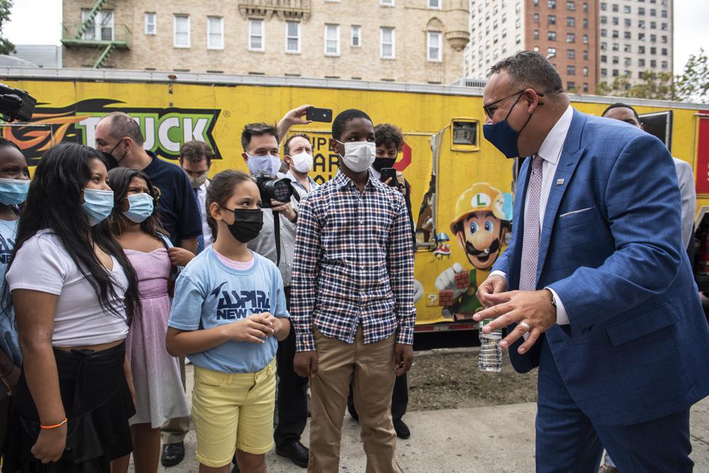
[[[596,0],[471,0],[466,77],[486,77],[503,57],[536,50],[549,57],[564,89],[593,94],[598,64]]]

